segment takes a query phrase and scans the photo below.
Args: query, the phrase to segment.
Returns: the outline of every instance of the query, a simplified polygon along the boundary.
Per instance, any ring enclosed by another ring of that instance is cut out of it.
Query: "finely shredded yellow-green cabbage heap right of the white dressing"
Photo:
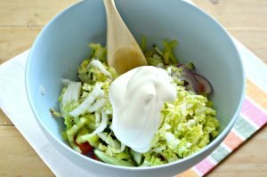
[[[166,164],[188,157],[205,147],[218,134],[215,110],[206,107],[204,96],[176,86],[177,100],[166,102],[164,120],[155,134],[151,149],[144,154],[150,165]]]

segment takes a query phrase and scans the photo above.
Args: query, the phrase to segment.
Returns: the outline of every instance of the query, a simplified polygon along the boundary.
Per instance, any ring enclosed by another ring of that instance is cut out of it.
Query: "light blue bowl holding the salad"
[[[150,44],[178,39],[180,62],[192,61],[197,72],[214,86],[212,100],[221,122],[219,136],[190,157],[153,167],[122,167],[94,161],[69,148],[61,137],[63,121],[51,117],[57,105],[61,78],[77,79],[77,66],[90,53],[87,44],[106,42],[106,18],[101,0],[74,4],[41,31],[28,57],[26,85],[36,120],[51,144],[65,157],[97,176],[171,176],[196,165],[231,130],[244,99],[245,76],[239,52],[225,29],[197,7],[182,0],[117,0],[117,9],[137,41]],[[42,92],[44,92],[43,94]]]

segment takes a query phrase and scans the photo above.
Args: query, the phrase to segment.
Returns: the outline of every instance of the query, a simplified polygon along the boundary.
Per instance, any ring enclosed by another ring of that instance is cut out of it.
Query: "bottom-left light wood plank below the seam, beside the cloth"
[[[14,126],[0,126],[0,176],[54,176]]]

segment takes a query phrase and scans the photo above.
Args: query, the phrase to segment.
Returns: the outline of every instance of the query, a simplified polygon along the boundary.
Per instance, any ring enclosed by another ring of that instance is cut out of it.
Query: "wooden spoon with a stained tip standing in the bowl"
[[[118,74],[147,65],[142,50],[117,12],[114,0],[103,0],[107,14],[108,64]]]

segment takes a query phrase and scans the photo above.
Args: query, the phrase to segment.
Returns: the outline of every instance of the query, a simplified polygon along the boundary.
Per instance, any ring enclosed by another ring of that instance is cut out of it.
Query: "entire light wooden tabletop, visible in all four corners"
[[[76,0],[0,0],[0,64],[33,43],[44,24]],[[193,0],[267,63],[266,0]],[[0,176],[54,176],[0,110]],[[267,176],[267,126],[208,176]]]

